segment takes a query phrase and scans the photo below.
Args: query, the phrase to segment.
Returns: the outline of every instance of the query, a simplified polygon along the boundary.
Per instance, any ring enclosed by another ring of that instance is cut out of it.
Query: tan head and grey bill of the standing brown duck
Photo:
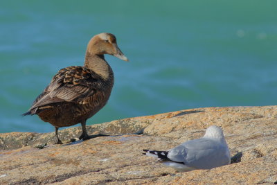
[[[100,33],[92,37],[89,44],[87,44],[87,52],[92,55],[114,55],[116,58],[128,61],[127,57],[118,48],[116,37],[111,33]]]

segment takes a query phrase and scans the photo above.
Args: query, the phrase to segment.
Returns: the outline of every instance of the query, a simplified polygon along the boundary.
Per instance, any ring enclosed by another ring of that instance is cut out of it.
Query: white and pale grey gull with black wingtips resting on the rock
[[[208,127],[202,138],[186,141],[168,151],[143,151],[144,155],[156,157],[164,165],[179,172],[211,169],[231,162],[230,150],[222,129],[215,125]]]

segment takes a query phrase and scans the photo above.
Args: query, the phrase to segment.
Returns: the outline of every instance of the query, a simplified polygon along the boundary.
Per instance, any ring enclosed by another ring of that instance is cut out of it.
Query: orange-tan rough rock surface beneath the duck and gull
[[[168,150],[224,130],[233,164],[177,173],[142,155]],[[209,107],[126,118],[88,126],[89,134],[113,134],[62,146],[54,133],[0,134],[0,184],[274,184],[277,183],[277,106]],[[61,130],[69,140],[80,127]],[[132,133],[143,134],[132,134]],[[47,143],[46,148],[35,148]]]

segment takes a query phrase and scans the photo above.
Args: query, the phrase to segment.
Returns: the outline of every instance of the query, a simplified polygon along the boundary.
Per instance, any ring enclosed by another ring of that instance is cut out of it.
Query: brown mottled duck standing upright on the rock
[[[23,114],[37,114],[55,127],[55,143],[62,143],[57,135],[59,127],[82,124],[80,139],[91,139],[86,121],[104,107],[114,85],[114,73],[104,54],[128,61],[111,33],[95,35],[87,45],[84,67],[60,69],[50,84]]]

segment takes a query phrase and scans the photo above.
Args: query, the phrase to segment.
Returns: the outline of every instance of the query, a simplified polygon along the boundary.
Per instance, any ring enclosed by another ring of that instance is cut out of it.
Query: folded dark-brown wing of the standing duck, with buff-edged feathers
[[[30,110],[51,103],[70,102],[92,96],[99,89],[100,81],[98,74],[85,67],[60,69],[48,87],[35,99]]]

